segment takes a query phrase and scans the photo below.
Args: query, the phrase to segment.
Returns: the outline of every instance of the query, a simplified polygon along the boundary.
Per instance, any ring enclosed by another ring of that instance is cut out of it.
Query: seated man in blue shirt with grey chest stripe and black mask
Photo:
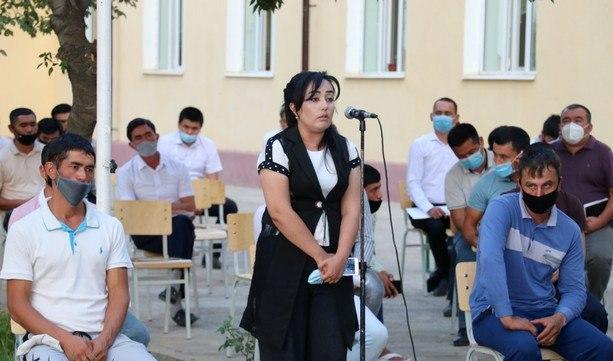
[[[559,158],[529,148],[518,180],[520,193],[494,198],[481,222],[470,297],[475,340],[510,361],[540,361],[539,346],[567,360],[613,360],[613,341],[578,317],[586,294],[583,246],[577,224],[555,206]]]

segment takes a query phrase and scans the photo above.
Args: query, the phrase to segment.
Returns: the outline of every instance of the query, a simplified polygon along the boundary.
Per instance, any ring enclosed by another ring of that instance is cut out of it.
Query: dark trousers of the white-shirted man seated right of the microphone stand
[[[419,228],[426,233],[426,239],[430,246],[430,251],[434,256],[434,263],[436,264],[436,273],[441,278],[447,278],[449,275],[449,269],[451,260],[449,252],[447,252],[447,233],[449,228],[449,217],[445,218],[426,218],[426,219],[412,219],[411,224],[415,228]]]

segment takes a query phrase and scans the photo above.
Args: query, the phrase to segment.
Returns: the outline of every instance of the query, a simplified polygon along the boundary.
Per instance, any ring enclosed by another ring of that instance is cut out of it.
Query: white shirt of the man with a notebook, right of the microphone
[[[428,212],[433,203],[445,203],[445,175],[458,161],[451,147],[434,132],[415,139],[409,149],[407,185],[409,197]]]

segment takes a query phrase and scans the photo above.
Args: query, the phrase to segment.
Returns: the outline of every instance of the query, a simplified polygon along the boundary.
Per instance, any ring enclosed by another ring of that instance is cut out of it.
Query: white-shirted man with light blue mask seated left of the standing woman
[[[160,152],[169,155],[176,161],[185,164],[191,179],[210,178],[219,179],[223,169],[217,153],[215,143],[208,137],[200,134],[204,125],[204,115],[198,108],[186,107],[179,113],[179,129],[160,138]],[[226,198],[224,203],[224,222],[230,213],[238,212],[236,202]],[[197,211],[200,213],[201,211]],[[201,214],[201,213],[200,213]],[[211,217],[219,217],[217,205],[209,208]],[[221,247],[216,244],[215,247]],[[214,254],[213,267],[220,268],[220,253]],[[202,258],[204,265],[204,257]]]

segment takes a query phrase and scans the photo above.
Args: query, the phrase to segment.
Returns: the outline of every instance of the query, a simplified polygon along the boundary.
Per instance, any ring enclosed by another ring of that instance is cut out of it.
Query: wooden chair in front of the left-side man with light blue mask
[[[228,282],[226,275],[226,255],[227,232],[224,223],[223,205],[226,201],[225,185],[220,180],[214,179],[194,179],[192,181],[196,209],[203,209],[204,215],[198,217],[199,222],[195,222],[196,242],[200,247],[206,260],[206,282],[208,293],[211,293],[211,275],[213,273],[213,254],[219,253],[222,260],[222,274],[224,279],[224,292],[228,298]],[[209,217],[209,208],[213,205],[219,207],[219,224],[214,224]],[[220,249],[215,249],[213,245],[221,244]]]

